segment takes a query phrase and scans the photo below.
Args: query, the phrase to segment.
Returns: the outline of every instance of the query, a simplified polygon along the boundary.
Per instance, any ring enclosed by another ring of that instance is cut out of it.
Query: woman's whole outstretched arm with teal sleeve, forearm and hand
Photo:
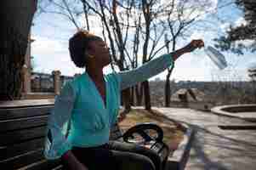
[[[156,76],[160,72],[166,70],[170,66],[174,66],[174,61],[182,54],[190,53],[196,48],[203,47],[202,40],[193,40],[185,48],[180,48],[171,54],[164,54],[153,59],[144,65],[132,70],[119,72],[121,85],[120,88],[125,89],[134,86],[138,82],[144,82],[150,77]]]

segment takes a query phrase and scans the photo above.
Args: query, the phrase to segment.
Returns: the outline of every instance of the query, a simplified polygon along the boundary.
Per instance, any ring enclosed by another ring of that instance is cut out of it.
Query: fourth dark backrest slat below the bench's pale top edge
[[[0,147],[0,161],[9,159],[14,156],[19,156],[25,154],[26,152],[32,150],[38,150],[38,148],[43,148],[44,137],[41,139],[33,139],[20,144],[8,145]],[[4,153],[4,154],[3,154]]]

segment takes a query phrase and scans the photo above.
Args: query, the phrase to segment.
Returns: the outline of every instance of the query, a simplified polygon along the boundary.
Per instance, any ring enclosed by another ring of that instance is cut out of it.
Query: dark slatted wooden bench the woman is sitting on
[[[0,103],[0,166],[7,170],[60,170],[60,160],[43,156],[47,120],[54,99],[16,100]],[[120,139],[118,126],[111,139]],[[166,153],[165,153],[166,154]]]

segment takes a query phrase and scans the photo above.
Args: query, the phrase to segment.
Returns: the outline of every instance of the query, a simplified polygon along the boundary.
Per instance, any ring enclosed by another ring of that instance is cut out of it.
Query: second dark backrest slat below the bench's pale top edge
[[[24,129],[28,127],[46,126],[48,116],[36,116],[29,118],[12,119],[9,121],[0,121],[0,133],[5,131]]]

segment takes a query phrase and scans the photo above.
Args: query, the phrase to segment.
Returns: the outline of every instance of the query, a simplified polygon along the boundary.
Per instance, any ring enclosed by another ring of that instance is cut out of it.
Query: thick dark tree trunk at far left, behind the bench
[[[9,0],[1,3],[0,100],[20,99],[21,70],[37,1]]]

